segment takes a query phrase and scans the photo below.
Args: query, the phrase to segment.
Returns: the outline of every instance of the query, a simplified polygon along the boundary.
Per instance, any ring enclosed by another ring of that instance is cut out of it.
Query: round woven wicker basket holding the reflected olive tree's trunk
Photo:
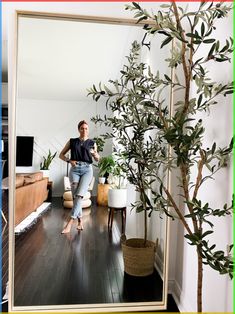
[[[124,271],[132,276],[148,276],[154,271],[156,244],[148,241],[144,246],[144,239],[121,238],[124,259]]]

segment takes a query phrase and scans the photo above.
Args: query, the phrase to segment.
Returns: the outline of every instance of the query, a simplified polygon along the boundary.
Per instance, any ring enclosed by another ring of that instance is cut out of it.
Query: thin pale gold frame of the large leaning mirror
[[[93,16],[79,16],[71,14],[50,14],[42,12],[27,12],[17,11],[15,18],[16,32],[18,34],[18,19],[20,16],[28,17],[42,17],[46,19],[64,19],[64,20],[79,20],[89,21],[94,23],[106,23],[106,24],[123,24],[123,25],[135,25],[136,20],[132,19],[119,19],[110,17],[93,17]],[[156,302],[136,302],[136,303],[108,303],[108,304],[77,304],[77,305],[53,305],[53,306],[14,306],[14,204],[15,204],[15,153],[16,153],[16,90],[17,90],[17,40],[18,36],[15,36],[14,43],[14,55],[15,60],[13,63],[13,75],[10,80],[9,90],[10,93],[9,103],[11,105],[11,111],[9,115],[9,312],[18,311],[56,311],[56,312],[124,312],[124,311],[151,311],[151,310],[163,310],[167,306],[167,294],[168,294],[168,264],[169,264],[169,225],[170,221],[167,217],[165,220],[165,234],[166,240],[164,243],[164,265],[163,265],[163,298],[162,301]],[[170,95],[170,109],[172,106],[172,91]],[[168,173],[168,187],[170,187],[170,174]]]

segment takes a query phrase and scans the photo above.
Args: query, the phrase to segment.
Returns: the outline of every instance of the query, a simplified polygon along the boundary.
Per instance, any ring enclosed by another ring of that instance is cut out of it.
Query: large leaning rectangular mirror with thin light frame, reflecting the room
[[[104,193],[99,190],[97,167],[90,191],[92,204],[84,209],[84,230],[61,235],[70,209],[63,204],[68,166],[58,158],[59,152],[69,138],[78,136],[80,120],[89,122],[90,138],[109,131],[90,121],[97,114],[112,113],[104,101],[96,103],[88,98],[87,89],[118,78],[131,43],[141,43],[144,34],[134,20],[17,14],[16,187],[9,310],[111,312],[166,308],[169,222],[159,212],[148,221],[149,238],[158,241],[153,275],[125,274],[121,216],[119,211],[114,213],[110,231],[107,204],[97,204],[98,193]],[[146,46],[141,49],[141,60],[153,71],[171,75],[169,68],[163,68],[170,51],[160,49],[156,40],[150,51]],[[170,106],[170,90],[165,98]],[[49,178],[41,178],[40,163],[49,150],[57,154]],[[100,154],[108,156],[112,150],[112,142],[107,141]],[[37,180],[41,185],[34,183]],[[46,198],[41,195],[43,184]],[[126,236],[141,236],[142,214],[130,211],[135,189],[130,185],[127,189]]]

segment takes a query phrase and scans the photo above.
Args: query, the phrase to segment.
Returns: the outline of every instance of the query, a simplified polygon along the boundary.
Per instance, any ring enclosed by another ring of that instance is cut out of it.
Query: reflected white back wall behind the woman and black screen
[[[97,109],[98,107],[98,109]],[[92,99],[86,101],[52,101],[19,99],[17,102],[16,125],[17,135],[34,136],[34,153],[32,167],[17,167],[17,172],[34,172],[40,170],[42,156],[57,152],[50,167],[50,180],[53,181],[53,196],[62,196],[63,178],[67,173],[67,163],[59,159],[59,153],[69,138],[78,136],[77,124],[81,119],[90,121],[95,113],[104,114],[105,106],[97,106]],[[90,138],[105,132],[107,128],[97,128],[89,123]],[[112,146],[105,145],[103,155],[112,152]],[[96,163],[94,163],[96,164]],[[97,167],[93,167],[97,179]],[[93,190],[96,195],[96,185]]]

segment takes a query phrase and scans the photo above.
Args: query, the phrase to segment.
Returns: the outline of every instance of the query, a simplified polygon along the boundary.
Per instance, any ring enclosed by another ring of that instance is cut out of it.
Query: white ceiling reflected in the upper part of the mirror
[[[18,97],[77,101],[119,76],[137,26],[20,17]]]

